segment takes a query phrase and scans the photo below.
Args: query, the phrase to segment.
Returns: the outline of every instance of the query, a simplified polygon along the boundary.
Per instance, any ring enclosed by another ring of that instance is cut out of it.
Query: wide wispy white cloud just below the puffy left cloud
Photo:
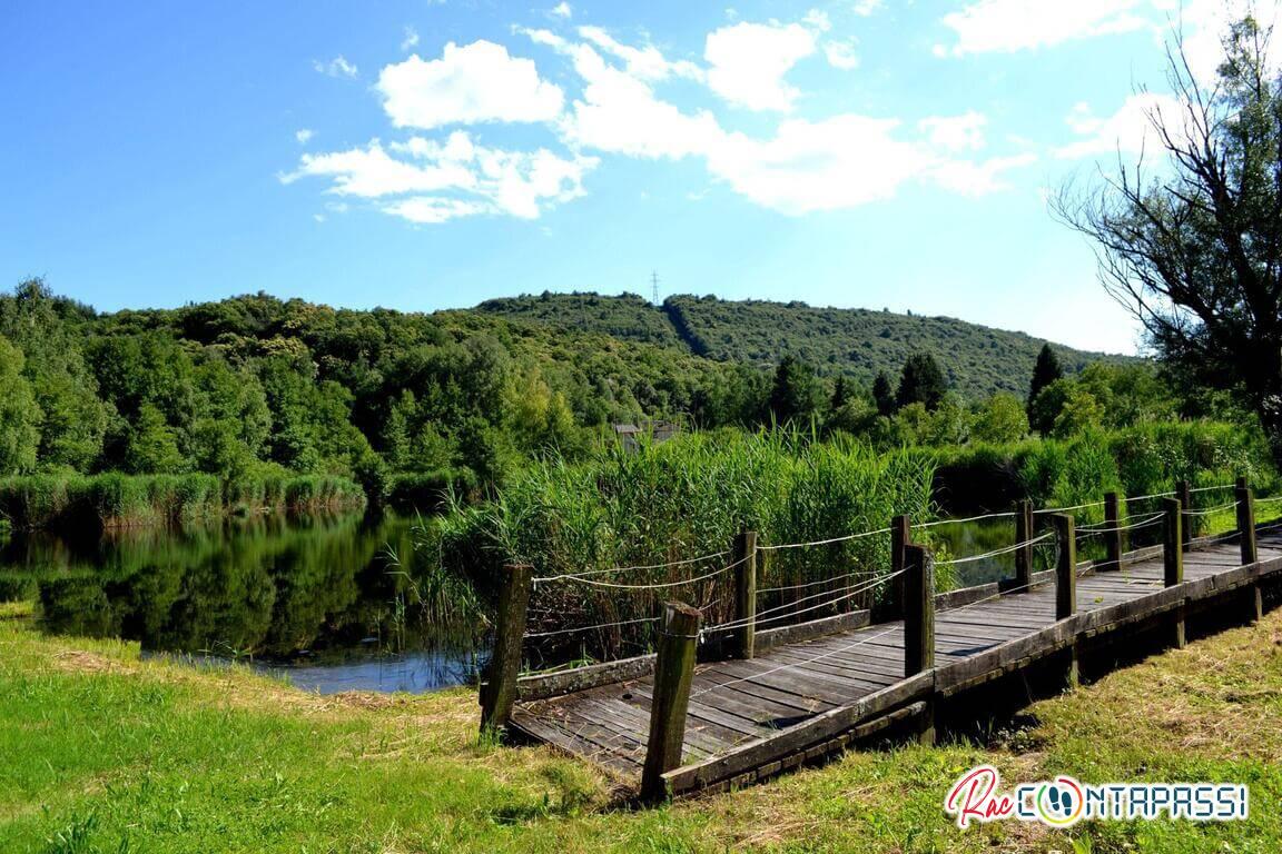
[[[368,146],[304,155],[283,183],[319,177],[327,192],[359,198],[387,198],[379,210],[415,223],[441,223],[476,214],[537,219],[555,202],[583,195],[583,177],[595,157],[562,157],[546,149],[505,151],[476,145],[464,131],[442,143],[412,137],[387,147]]]

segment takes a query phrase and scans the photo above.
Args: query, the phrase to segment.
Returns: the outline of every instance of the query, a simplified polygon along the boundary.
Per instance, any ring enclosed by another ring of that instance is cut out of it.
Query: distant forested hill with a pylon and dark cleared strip
[[[1027,393],[1042,342],[1020,332],[991,329],[953,318],[926,318],[867,309],[819,309],[804,302],[733,302],[673,296],[663,306],[626,293],[542,293],[487,300],[486,315],[551,323],[624,341],[679,347],[697,356],[773,369],[795,356],[826,376],[863,384],[878,371],[897,376],[914,352],[929,352],[953,391],[974,401],[994,392]],[[1053,344],[1070,374],[1091,361],[1117,357]]]

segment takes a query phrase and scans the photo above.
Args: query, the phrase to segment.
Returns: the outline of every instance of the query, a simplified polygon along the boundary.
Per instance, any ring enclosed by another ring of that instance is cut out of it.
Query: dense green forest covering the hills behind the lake
[[[591,309],[586,329],[568,311],[578,303]],[[715,357],[685,347],[669,315]],[[796,352],[772,361],[753,343],[767,339]],[[659,310],[640,297],[524,297],[427,315],[260,293],[99,314],[29,280],[0,296],[0,475],[206,474],[237,484],[227,504],[255,489],[341,497],[338,481],[282,480],[336,476],[376,499],[422,501],[451,484],[488,492],[533,460],[585,458],[613,444],[612,423],[647,417],[791,423],[888,449],[1223,414],[1173,394],[1147,362],[1050,346],[1037,362],[1037,347],[953,320],[709,298]],[[859,371],[885,367],[854,379],[833,367],[837,352],[877,353]],[[38,493],[41,512],[58,515],[74,504],[65,495],[119,510],[144,492],[46,480],[9,494]]]

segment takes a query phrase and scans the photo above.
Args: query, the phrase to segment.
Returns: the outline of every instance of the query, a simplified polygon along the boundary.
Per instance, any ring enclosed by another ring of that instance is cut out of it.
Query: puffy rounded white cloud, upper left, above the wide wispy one
[[[490,41],[445,46],[441,59],[410,56],[378,74],[392,124],[438,128],[477,122],[546,122],[562,109],[560,88],[535,63]]]

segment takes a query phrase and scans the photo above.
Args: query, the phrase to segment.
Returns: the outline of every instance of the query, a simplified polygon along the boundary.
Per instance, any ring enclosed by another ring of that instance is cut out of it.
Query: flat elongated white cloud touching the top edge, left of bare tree
[[[1136,14],[1144,0],[977,0],[944,15],[956,36],[938,55],[1011,52],[1074,38],[1131,32],[1151,26]]]

